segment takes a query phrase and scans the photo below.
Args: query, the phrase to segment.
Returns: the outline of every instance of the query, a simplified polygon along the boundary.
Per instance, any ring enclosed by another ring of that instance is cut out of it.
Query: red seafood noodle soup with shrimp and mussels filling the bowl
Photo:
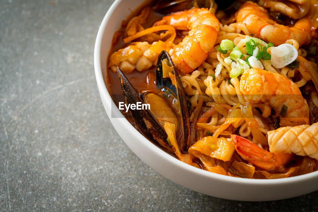
[[[106,80],[149,142],[234,177],[318,170],[316,0],[161,0],[133,14]]]

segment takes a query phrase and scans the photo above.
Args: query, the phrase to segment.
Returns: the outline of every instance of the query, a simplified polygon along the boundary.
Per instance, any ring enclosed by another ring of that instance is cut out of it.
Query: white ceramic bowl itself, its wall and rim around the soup
[[[194,191],[241,201],[269,201],[295,197],[318,189],[318,171],[283,179],[243,179],[204,171],[185,164],[156,147],[124,118],[111,99],[103,77],[114,32],[121,21],[144,0],[116,0],[107,11],[97,34],[94,67],[100,97],[107,115],[127,146],[151,168]]]

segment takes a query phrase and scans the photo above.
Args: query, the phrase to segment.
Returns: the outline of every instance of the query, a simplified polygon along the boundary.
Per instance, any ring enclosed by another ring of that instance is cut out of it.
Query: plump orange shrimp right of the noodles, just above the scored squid
[[[248,69],[240,79],[239,89],[249,103],[263,102],[280,113],[287,106],[287,113],[280,117],[281,126],[309,124],[309,108],[297,85],[278,73],[261,69]]]

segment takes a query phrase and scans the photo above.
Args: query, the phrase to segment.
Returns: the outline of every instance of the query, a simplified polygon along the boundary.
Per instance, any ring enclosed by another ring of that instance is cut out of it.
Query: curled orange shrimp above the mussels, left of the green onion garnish
[[[192,72],[204,62],[214,47],[220,27],[214,14],[204,8],[173,13],[155,23],[161,24],[172,25],[176,30],[190,30],[182,42],[169,52],[183,74]]]

